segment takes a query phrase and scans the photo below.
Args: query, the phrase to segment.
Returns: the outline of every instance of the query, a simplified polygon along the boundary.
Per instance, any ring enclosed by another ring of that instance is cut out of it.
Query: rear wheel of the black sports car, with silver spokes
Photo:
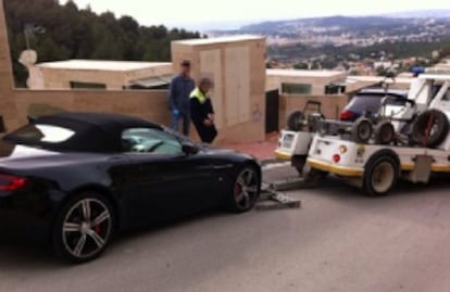
[[[71,198],[57,216],[52,230],[53,251],[75,264],[99,257],[110,244],[115,212],[109,200],[95,192]]]

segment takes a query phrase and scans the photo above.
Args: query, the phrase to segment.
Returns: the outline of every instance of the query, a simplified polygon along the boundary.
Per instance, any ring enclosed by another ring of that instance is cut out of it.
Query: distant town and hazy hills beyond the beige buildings
[[[429,66],[450,53],[449,11],[389,16],[330,16],[264,22],[209,36],[267,37],[267,67],[386,75]],[[432,16],[433,15],[433,16]]]

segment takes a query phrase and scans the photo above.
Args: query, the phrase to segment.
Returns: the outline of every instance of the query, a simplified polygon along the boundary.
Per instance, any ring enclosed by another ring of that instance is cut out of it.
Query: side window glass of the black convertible
[[[182,143],[177,137],[159,129],[133,128],[122,134],[124,152],[180,154]]]

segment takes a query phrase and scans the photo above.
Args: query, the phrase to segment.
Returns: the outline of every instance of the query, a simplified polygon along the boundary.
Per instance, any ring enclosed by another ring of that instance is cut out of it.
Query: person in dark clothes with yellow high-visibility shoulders
[[[209,96],[211,87],[211,79],[201,78],[199,86],[190,93],[190,118],[203,143],[212,143],[217,136],[214,109]]]

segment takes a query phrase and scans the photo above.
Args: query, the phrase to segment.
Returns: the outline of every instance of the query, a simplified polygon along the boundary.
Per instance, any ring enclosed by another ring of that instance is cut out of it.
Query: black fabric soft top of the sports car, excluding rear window
[[[38,142],[34,144],[57,151],[117,152],[122,149],[122,132],[128,128],[161,128],[151,122],[121,114],[105,113],[59,113],[41,116],[33,124],[54,125],[75,131],[75,135],[61,143]],[[16,143],[29,144],[14,137],[14,132],[4,137]]]

